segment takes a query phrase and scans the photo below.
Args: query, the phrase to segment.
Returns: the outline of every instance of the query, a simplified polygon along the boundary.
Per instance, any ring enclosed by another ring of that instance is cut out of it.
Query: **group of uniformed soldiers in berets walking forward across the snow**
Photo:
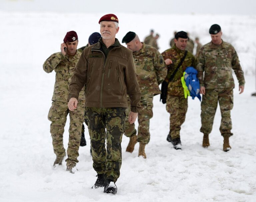
[[[133,152],[135,144],[139,142],[138,156],[146,158],[153,97],[161,93],[159,85],[163,81],[168,83],[166,110],[170,113],[170,130],[167,141],[175,149],[181,149],[180,129],[188,108],[181,77],[188,66],[193,66],[198,71],[200,93],[203,94],[202,146],[210,146],[209,134],[219,102],[224,151],[231,149],[232,69],[238,78],[240,93],[245,83],[236,51],[221,39],[219,25],[211,26],[209,33],[212,41],[200,49],[196,59],[186,50],[189,37],[184,31],[175,33],[174,44],[161,54],[155,43],[159,35],[154,37],[153,30],[144,43],[135,32],[128,32],[122,39],[127,48],[122,46],[115,38],[119,31],[118,23],[114,14],[102,16],[99,20],[100,33],[93,33],[89,43],[80,49],[77,49],[76,32],[67,32],[61,52],[52,54],[43,64],[47,73],[56,72],[52,106],[48,114],[56,155],[54,166],[61,165],[66,156],[63,133],[69,114],[67,171],[76,171],[85,122],[91,138],[93,168],[97,172],[97,180],[92,188],[104,187],[104,192],[112,194],[117,193],[115,182],[120,176],[123,134],[130,138],[126,151]],[[153,47],[155,44],[156,47]],[[137,117],[138,131],[134,125]]]

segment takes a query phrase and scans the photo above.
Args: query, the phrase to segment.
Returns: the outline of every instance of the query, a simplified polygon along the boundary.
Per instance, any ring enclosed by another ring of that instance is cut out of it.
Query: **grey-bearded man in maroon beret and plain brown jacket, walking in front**
[[[118,22],[114,14],[100,18],[102,37],[83,50],[69,84],[68,97],[69,109],[76,110],[79,91],[85,85],[93,168],[98,177],[92,188],[104,187],[104,192],[113,194],[117,193],[115,182],[122,164],[121,141],[128,107],[126,95],[131,102],[131,124],[140,110],[141,97],[132,51],[115,38]]]

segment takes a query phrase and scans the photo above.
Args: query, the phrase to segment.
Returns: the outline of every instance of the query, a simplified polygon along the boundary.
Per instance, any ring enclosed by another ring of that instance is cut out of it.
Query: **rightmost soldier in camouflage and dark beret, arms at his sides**
[[[209,33],[212,41],[201,48],[197,58],[200,93],[203,94],[201,103],[202,127],[200,129],[204,134],[202,146],[210,146],[209,134],[212,131],[213,119],[219,102],[221,111],[220,132],[224,138],[223,151],[229,151],[231,149],[229,137],[233,135],[231,133],[230,110],[233,108],[233,88],[235,87],[232,69],[239,82],[240,94],[244,91],[244,74],[234,47],[221,39],[220,26],[212,25]]]

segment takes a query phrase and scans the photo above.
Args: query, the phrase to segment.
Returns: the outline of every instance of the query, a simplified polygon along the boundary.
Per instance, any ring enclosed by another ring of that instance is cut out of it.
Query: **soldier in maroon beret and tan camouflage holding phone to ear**
[[[72,168],[78,163],[78,149],[80,145],[82,123],[84,120],[84,89],[79,94],[79,108],[76,111],[68,110],[68,90],[71,76],[81,53],[76,50],[78,38],[75,31],[67,32],[64,43],[61,44],[61,52],[52,54],[43,64],[45,72],[56,72],[54,93],[52,97],[52,106],[50,108],[48,119],[52,122],[50,132],[52,135],[53,150],[56,154],[56,164],[61,165],[66,152],[63,147],[64,126],[67,115],[70,116],[69,142],[67,154],[67,170],[73,173]]]

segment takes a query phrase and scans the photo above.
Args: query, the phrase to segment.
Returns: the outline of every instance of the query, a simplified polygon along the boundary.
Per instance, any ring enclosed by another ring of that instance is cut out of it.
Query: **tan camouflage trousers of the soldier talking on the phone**
[[[63,133],[66,124],[67,115],[70,117],[69,125],[69,141],[66,159],[67,166],[75,166],[78,163],[79,156],[78,149],[80,146],[82,124],[84,121],[85,101],[78,101],[77,109],[70,111],[68,103],[53,101],[49,110],[48,119],[52,122],[50,132],[52,135],[53,151],[57,157],[65,156],[65,149],[63,146]]]

